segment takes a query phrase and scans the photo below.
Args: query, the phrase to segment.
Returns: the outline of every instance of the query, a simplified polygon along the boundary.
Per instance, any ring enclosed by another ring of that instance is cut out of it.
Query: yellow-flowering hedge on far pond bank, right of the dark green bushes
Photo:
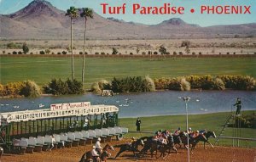
[[[154,79],[156,89],[189,91],[192,89],[224,90],[254,90],[255,79],[248,75],[188,75],[177,78]]]

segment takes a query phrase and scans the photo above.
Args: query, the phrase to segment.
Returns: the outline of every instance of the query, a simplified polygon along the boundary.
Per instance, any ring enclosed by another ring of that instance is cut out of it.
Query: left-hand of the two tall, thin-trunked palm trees
[[[72,54],[72,79],[74,80],[74,68],[73,68],[73,19],[77,18],[78,17],[78,9],[75,8],[75,7],[70,7],[69,9],[67,9],[67,13],[66,13],[66,16],[69,16],[70,17],[70,32],[71,32],[71,36],[70,36],[70,42],[71,42],[71,45],[70,45],[70,50],[71,50],[71,54]]]

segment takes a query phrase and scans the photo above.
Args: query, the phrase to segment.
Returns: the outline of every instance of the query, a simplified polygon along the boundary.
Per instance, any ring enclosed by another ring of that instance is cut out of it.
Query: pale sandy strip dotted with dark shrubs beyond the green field
[[[185,39],[190,42],[189,49],[191,53],[202,54],[254,54],[256,52],[256,38],[212,38],[212,39]],[[148,54],[148,51],[158,52],[161,45],[166,47],[167,52],[183,52],[185,54],[185,47],[181,47],[183,39],[170,39],[170,40],[89,40],[87,41],[86,51],[89,54],[95,53],[112,53],[112,47],[115,47],[121,54]],[[19,40],[9,41],[0,40],[0,54],[19,52],[22,49],[7,49],[6,45],[9,42],[23,44],[26,42],[30,48],[29,53],[39,54],[41,50],[49,49],[49,54],[57,54],[62,51],[67,51],[69,47],[69,40],[49,40],[49,41],[32,41],[32,40]],[[83,51],[84,41],[74,40],[74,54],[79,54]],[[138,51],[137,51],[138,50]],[[138,53],[137,53],[138,52]],[[28,53],[28,54],[29,54]]]

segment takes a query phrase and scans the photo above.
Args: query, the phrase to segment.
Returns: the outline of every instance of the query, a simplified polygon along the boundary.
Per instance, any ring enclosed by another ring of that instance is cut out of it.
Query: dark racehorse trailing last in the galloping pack
[[[132,151],[134,157],[136,158],[135,152],[139,152],[139,150],[138,150],[139,145],[144,146],[144,142],[143,142],[142,138],[138,139],[137,141],[131,142],[131,143],[119,144],[119,145],[113,146],[113,148],[120,148],[118,154],[115,155],[115,159],[119,156],[119,154],[121,154],[125,151]]]

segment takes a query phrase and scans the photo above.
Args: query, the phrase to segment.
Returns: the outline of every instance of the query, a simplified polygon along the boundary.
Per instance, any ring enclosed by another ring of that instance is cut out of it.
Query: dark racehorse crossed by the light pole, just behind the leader
[[[188,145],[187,133],[182,131],[179,135],[181,137],[184,147],[186,148],[186,145]],[[196,144],[200,141],[207,141],[207,138],[202,134],[199,134],[197,137],[194,137],[194,138],[189,138],[189,145],[190,144],[192,145],[192,147],[191,147],[192,154],[193,154],[192,151],[193,151],[193,149],[195,149]],[[187,146],[187,147],[189,147],[189,146]]]

